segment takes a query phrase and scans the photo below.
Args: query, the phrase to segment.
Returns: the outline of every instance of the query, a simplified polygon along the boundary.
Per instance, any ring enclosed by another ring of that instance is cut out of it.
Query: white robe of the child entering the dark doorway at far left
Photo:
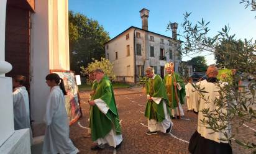
[[[14,129],[29,129],[30,142],[32,143],[32,130],[29,117],[29,94],[24,86],[14,89],[12,92],[14,109]]]

